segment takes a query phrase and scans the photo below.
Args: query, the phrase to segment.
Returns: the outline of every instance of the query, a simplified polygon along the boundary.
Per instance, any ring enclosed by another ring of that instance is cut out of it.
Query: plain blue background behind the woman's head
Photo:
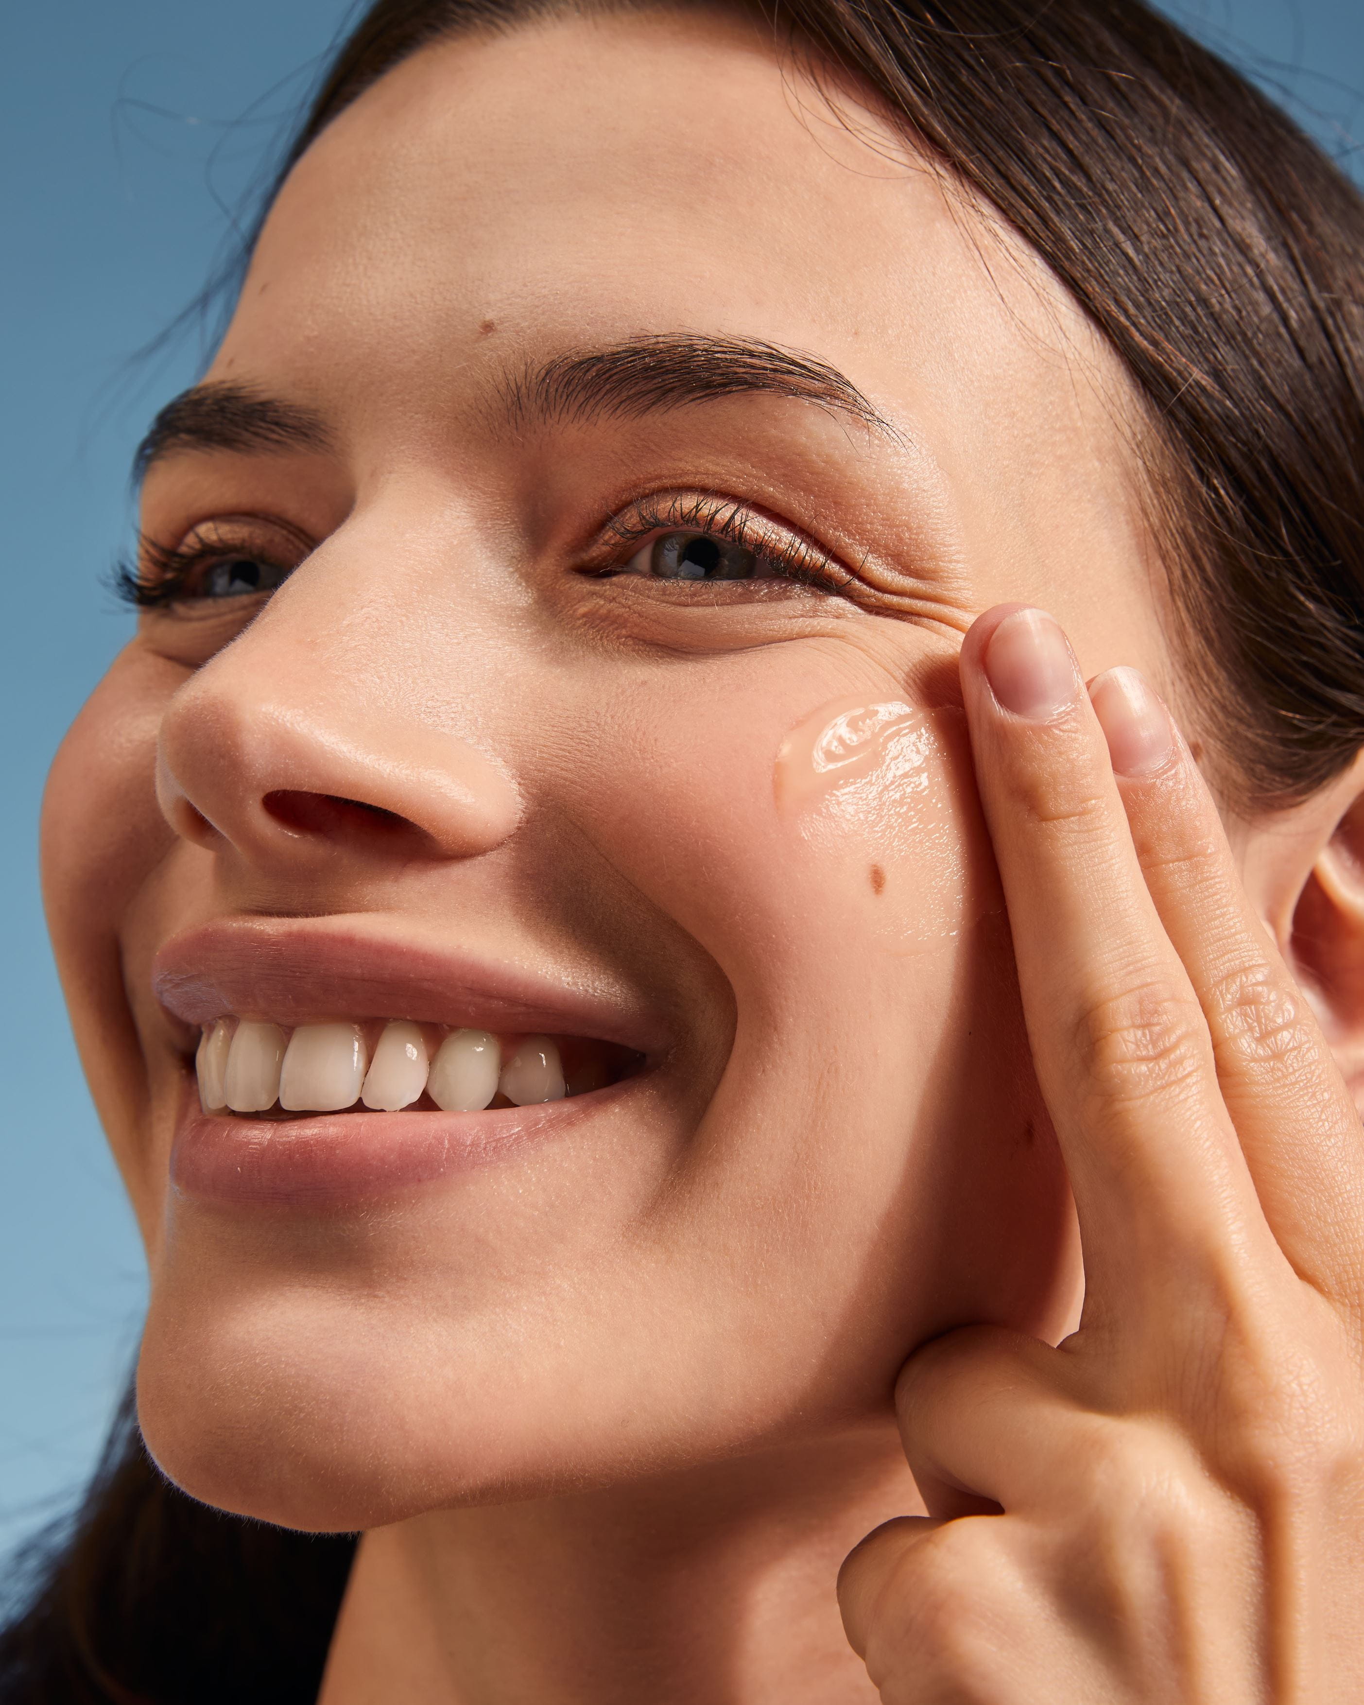
[[[348,0],[7,7],[0,68],[0,1550],[87,1475],[133,1354],[142,1251],[90,1110],[36,878],[43,777],[124,641],[102,588],[128,462],[203,360],[194,298]],[[1364,135],[1361,0],[1190,0],[1175,15],[1338,157]],[[1364,179],[1361,162],[1350,162]]]

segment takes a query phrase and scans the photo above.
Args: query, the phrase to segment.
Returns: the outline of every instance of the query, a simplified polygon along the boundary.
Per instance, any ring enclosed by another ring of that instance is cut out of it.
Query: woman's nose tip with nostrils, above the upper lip
[[[186,682],[157,742],[176,834],[283,875],[338,858],[467,859],[506,841],[512,777],[467,737],[394,709],[382,658],[348,663],[315,627],[302,641],[290,621],[263,622]]]

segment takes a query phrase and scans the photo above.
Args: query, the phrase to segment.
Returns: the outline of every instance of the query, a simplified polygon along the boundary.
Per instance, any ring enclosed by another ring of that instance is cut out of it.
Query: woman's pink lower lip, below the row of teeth
[[[170,1149],[170,1183],[198,1200],[237,1207],[344,1207],[512,1159],[573,1130],[636,1083],[626,1078],[564,1101],[486,1113],[273,1120],[205,1113],[191,1079]]]

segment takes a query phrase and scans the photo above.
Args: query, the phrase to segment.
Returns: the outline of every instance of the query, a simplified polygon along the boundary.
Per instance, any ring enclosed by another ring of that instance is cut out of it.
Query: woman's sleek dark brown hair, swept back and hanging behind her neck
[[[379,0],[336,55],[285,172],[435,39],[653,3]],[[1245,806],[1292,803],[1338,774],[1364,743],[1354,186],[1141,0],[733,9],[899,116],[1032,244],[1120,358],[1158,450],[1146,472],[1171,639]],[[124,1408],[85,1506],[0,1633],[0,1705],[310,1702],[348,1560],[350,1540],[194,1504],[147,1459]]]

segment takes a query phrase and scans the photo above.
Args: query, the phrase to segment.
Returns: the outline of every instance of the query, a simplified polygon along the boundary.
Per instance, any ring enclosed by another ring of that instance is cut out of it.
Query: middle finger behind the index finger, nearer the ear
[[[1241,887],[1217,808],[1142,677],[1089,697],[1108,742],[1146,885],[1207,1021],[1222,1100],[1265,1217],[1294,1269],[1357,1296],[1364,1144],[1320,1026]]]

